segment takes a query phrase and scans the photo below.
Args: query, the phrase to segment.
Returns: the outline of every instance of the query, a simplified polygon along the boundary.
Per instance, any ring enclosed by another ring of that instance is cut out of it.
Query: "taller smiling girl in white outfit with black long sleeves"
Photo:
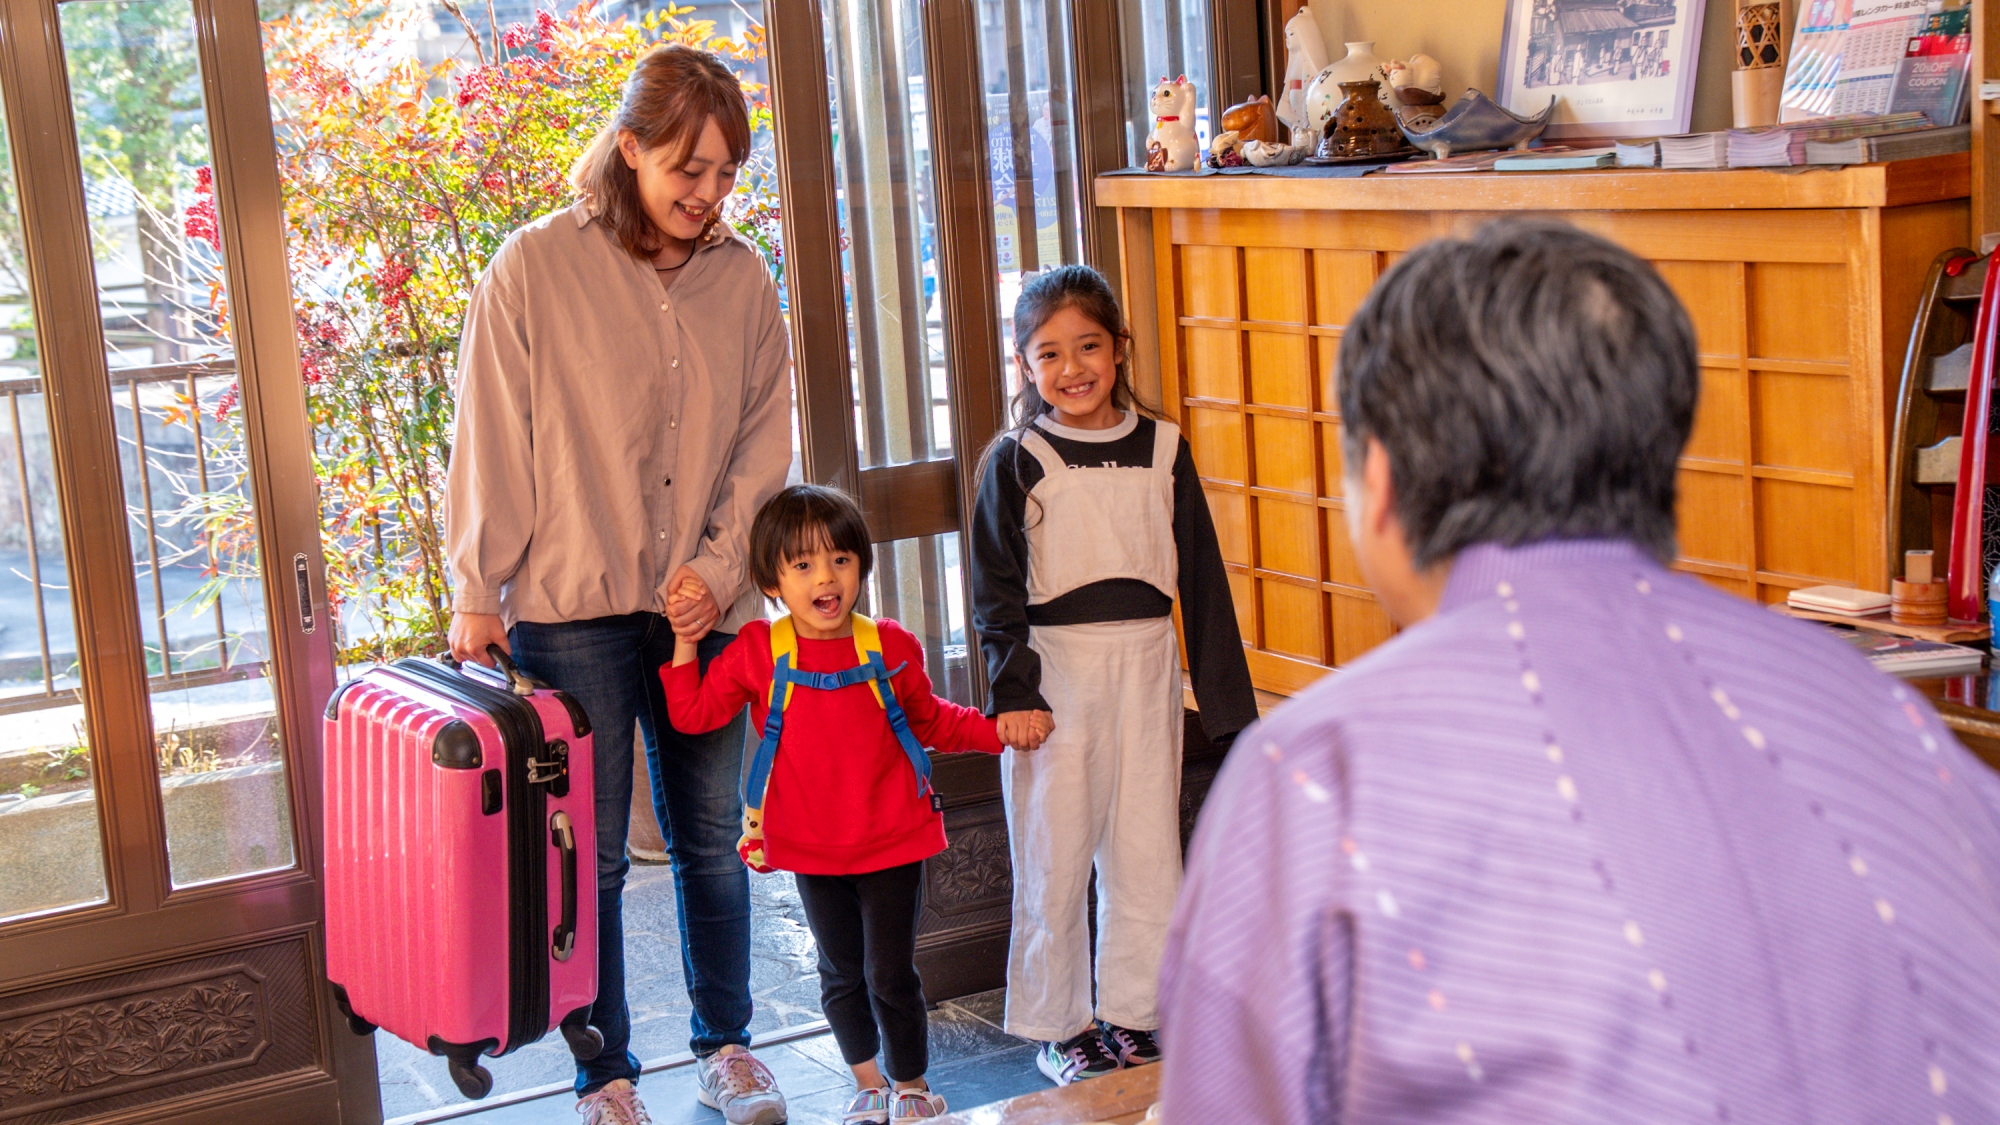
[[[1152,1063],[1160,955],[1180,889],[1184,721],[1174,597],[1202,729],[1256,719],[1216,528],[1188,442],[1142,416],[1118,300],[1088,266],[1014,304],[1022,388],[986,448],[972,526],[974,625],[1006,753],[1014,939],[1006,1029],[1056,1085]],[[1086,893],[1098,875],[1096,1003]]]

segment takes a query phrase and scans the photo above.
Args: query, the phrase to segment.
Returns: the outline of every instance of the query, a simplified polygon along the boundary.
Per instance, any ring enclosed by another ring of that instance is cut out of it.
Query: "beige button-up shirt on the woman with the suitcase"
[[[664,613],[682,562],[760,617],[750,520],[792,460],[790,342],[728,224],[672,290],[586,204],[508,236],[458,344],[444,538],[458,613]]]

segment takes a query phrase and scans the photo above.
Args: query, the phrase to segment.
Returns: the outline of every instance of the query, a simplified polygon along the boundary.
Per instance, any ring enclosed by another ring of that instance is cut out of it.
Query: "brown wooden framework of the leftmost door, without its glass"
[[[244,1063],[246,1081],[160,1071],[106,1083],[104,1113],[86,1115],[200,1121],[230,1105],[286,1121],[366,1125],[382,1115],[374,1045],[346,1031],[324,983],[316,709],[332,691],[334,653],[262,34],[256,0],[188,2],[248,422],[296,863],[266,875],[172,887],[58,0],[0,0],[0,100],[36,310],[106,869],[104,903],[0,929],[0,965],[6,965],[0,1029],[120,997],[200,989],[204,981],[254,981],[250,1003],[262,1031],[254,1051],[270,1065],[282,1059],[282,1073],[256,1073],[256,1059]],[[296,556],[304,556],[310,633],[294,587]],[[68,1113],[80,1105],[88,1103],[70,1101]]]

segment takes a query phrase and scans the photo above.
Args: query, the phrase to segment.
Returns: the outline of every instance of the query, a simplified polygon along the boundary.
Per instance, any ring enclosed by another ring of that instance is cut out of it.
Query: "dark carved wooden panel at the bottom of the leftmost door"
[[[0,1121],[54,1125],[318,1065],[304,937],[0,997]]]

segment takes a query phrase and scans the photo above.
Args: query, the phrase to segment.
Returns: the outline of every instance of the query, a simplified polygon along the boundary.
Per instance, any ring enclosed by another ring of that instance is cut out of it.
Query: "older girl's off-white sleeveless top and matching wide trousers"
[[[1028,492],[1030,607],[1104,579],[1140,579],[1174,597],[1178,428],[1158,422],[1152,468],[1070,468],[1032,428],[1020,444],[1042,462],[1042,480]],[[1028,645],[1042,657],[1042,697],[1056,731],[1040,751],[1000,759],[1014,859],[1006,1029],[1056,1041],[1082,1033],[1096,1015],[1154,1031],[1160,957],[1180,891],[1174,619],[1032,627]]]

